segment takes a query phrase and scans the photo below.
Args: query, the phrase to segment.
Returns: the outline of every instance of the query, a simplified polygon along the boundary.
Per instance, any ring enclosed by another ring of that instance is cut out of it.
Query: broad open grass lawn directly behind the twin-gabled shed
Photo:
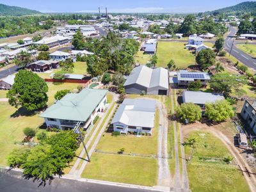
[[[167,63],[172,59],[178,68],[195,65],[195,55],[186,50],[184,44],[184,42],[158,42],[157,67],[167,67]]]

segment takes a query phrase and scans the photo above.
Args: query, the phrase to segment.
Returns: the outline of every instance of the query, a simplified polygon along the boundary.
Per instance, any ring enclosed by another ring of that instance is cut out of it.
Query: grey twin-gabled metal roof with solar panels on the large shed
[[[168,70],[162,67],[152,69],[144,65],[135,67],[124,86],[130,84],[140,84],[146,88],[161,86],[168,89]]]

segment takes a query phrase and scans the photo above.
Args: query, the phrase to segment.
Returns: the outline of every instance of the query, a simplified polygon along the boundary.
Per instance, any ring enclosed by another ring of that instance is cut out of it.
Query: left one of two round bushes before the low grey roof
[[[179,108],[176,109],[176,115],[185,122],[196,122],[202,118],[202,109],[193,103],[182,103]]]

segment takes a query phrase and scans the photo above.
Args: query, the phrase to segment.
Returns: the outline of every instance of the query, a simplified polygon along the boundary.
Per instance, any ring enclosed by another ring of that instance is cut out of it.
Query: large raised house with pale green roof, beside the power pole
[[[47,108],[40,117],[47,127],[72,129],[77,122],[83,122],[86,129],[98,113],[106,108],[108,90],[85,88],[79,93],[68,93],[55,104]]]

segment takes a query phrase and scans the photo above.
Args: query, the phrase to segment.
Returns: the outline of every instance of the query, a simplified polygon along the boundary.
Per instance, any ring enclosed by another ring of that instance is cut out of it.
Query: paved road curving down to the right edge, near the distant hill
[[[233,40],[232,40],[234,35],[236,35],[236,29],[233,27],[230,27],[230,33],[225,40],[225,45],[224,45],[225,50],[229,53],[230,49],[232,47],[232,44],[234,43],[234,45],[232,47],[232,51],[230,52],[232,54],[232,56],[237,58],[237,60],[241,61],[241,63],[244,63],[244,65],[246,65],[247,67],[250,67],[250,68],[253,68],[254,70],[256,70],[255,58],[252,58],[252,56],[237,49],[236,42],[233,42]]]

